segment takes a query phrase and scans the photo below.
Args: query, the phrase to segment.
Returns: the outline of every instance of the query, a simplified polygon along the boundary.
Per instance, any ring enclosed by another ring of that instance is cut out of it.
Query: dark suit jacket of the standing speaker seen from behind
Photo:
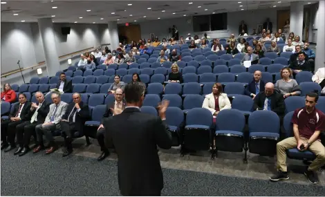
[[[118,153],[118,184],[123,196],[154,195],[163,189],[158,147],[171,148],[171,133],[158,116],[135,107],[104,121],[105,144]]]

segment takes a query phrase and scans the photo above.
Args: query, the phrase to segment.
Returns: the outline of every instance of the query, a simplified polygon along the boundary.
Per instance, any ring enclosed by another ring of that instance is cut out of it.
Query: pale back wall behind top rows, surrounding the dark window
[[[228,12],[228,30],[207,32],[210,37],[229,37],[230,33],[238,35],[239,24],[243,20],[248,25],[248,33],[252,32],[253,28],[257,28],[258,24],[263,24],[267,18],[270,18],[273,28],[277,30],[277,10],[286,10],[289,8],[273,8],[266,10],[250,10],[241,12]],[[140,22],[141,37],[149,38],[150,33],[154,33],[160,39],[163,37],[171,37],[168,33],[168,28],[175,25],[179,31],[180,36],[186,37],[188,33],[192,36],[198,35],[203,37],[204,32],[193,32],[192,17],[180,17],[174,19],[159,19],[156,21]]]

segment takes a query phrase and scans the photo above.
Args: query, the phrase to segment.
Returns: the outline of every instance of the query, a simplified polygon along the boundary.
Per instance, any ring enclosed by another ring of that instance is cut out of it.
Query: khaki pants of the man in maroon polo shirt
[[[304,142],[308,142],[307,138],[301,138]],[[294,137],[286,138],[281,142],[277,143],[277,169],[281,171],[287,171],[286,166],[286,150],[297,148],[297,140]],[[308,147],[309,151],[312,151],[316,155],[316,159],[308,167],[310,171],[317,171],[319,167],[325,164],[325,147],[322,142],[316,140],[310,147]]]

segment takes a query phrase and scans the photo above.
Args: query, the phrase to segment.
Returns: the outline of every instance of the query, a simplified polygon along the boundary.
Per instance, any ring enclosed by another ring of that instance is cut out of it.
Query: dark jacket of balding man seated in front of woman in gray
[[[284,96],[281,93],[277,93],[276,91],[270,96],[271,97],[271,110],[277,113],[280,117],[284,115],[284,110],[286,106],[284,105]],[[264,102],[266,100],[266,94],[264,92],[260,92],[254,98],[254,110],[263,109]]]

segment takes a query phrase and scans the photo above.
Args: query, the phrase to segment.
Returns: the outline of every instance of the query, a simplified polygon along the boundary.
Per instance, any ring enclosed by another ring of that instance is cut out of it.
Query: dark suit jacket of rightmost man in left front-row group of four
[[[68,116],[73,111],[74,106],[74,102],[68,104],[66,113],[62,115],[62,120],[68,120]],[[75,113],[75,130],[82,132],[84,129],[84,122],[86,122],[86,120],[89,118],[89,106],[84,102],[80,102],[79,106],[81,110]]]

